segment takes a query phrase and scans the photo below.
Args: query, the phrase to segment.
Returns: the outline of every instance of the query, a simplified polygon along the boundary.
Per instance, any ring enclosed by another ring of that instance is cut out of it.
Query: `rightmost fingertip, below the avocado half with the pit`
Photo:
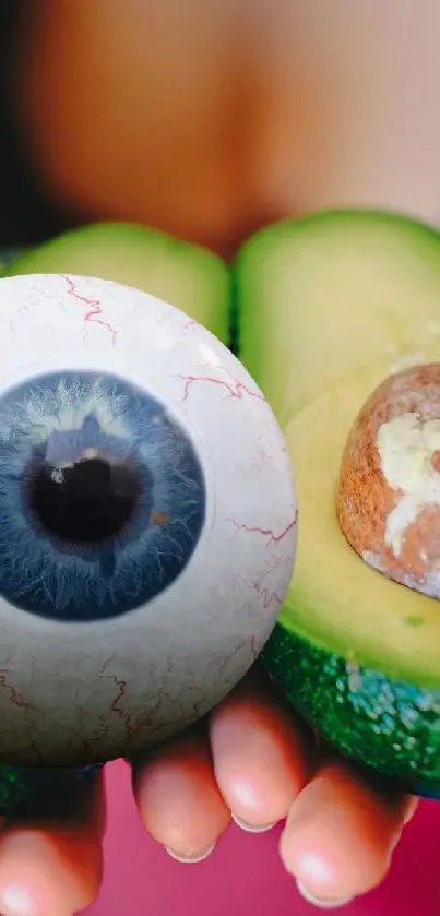
[[[345,763],[329,762],[298,796],[281,856],[306,899],[341,905],[385,877],[415,799],[385,797]]]

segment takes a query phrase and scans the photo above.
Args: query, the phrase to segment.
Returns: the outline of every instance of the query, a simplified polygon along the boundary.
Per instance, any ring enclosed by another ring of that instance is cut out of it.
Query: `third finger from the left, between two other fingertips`
[[[262,675],[252,675],[212,714],[217,784],[245,830],[267,830],[286,817],[305,786],[312,754],[302,723]]]

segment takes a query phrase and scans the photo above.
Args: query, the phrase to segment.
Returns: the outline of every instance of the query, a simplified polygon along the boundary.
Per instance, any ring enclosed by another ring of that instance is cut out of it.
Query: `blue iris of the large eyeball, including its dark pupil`
[[[0,398],[0,595],[60,621],[116,617],[182,572],[205,519],[197,452],[111,374],[60,372]]]

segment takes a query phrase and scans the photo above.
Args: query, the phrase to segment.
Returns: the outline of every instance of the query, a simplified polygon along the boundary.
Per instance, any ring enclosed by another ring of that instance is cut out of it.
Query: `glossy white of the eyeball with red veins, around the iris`
[[[15,763],[130,754],[204,715],[263,647],[296,550],[283,437],[245,368],[205,329],[107,281],[1,279],[0,401],[69,370],[111,372],[166,406],[199,454],[206,522],[181,575],[120,617],[58,622],[0,595],[0,760]]]

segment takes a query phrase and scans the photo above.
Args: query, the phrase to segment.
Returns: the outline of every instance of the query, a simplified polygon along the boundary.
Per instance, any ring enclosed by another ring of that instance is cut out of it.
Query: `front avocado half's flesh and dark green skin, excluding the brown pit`
[[[299,543],[264,661],[330,743],[400,778],[407,790],[435,794],[440,605],[367,567],[336,521],[340,455],[358,381],[348,377],[285,430],[299,493]]]

